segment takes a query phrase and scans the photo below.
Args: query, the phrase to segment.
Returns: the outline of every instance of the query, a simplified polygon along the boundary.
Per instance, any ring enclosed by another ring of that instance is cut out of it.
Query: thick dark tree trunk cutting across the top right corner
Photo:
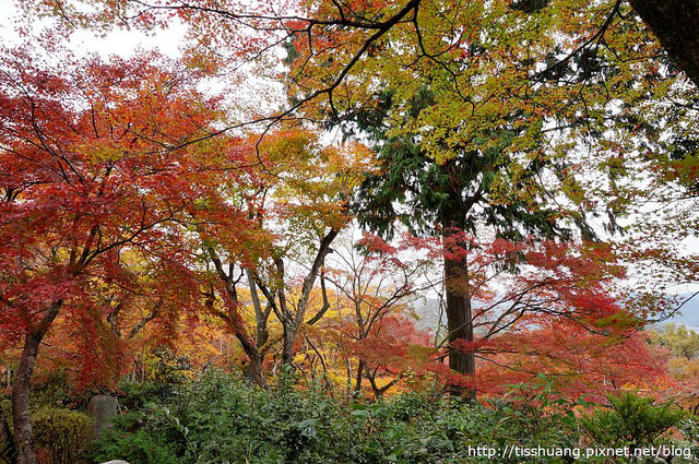
[[[699,0],[629,0],[677,68],[699,86]]]

